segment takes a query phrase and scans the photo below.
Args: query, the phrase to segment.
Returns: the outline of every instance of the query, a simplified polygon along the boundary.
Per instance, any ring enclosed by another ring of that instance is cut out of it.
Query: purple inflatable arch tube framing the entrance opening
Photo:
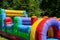
[[[47,40],[47,31],[51,26],[56,26],[57,28],[60,27],[58,20],[55,18],[51,18],[50,20],[46,21],[46,23],[43,26],[42,30],[42,40]]]

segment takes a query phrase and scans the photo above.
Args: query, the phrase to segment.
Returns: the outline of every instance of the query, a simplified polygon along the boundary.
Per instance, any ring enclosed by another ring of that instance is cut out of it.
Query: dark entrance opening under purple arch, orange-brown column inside
[[[47,38],[57,38],[56,34],[58,32],[58,27],[56,26],[51,26],[48,31],[47,31]]]

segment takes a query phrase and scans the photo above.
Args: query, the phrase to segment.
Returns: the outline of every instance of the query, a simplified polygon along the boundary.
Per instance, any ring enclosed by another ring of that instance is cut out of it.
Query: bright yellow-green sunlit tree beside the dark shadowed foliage
[[[33,16],[40,16],[41,15],[41,9],[40,9],[40,1],[39,0],[29,0],[29,15]]]

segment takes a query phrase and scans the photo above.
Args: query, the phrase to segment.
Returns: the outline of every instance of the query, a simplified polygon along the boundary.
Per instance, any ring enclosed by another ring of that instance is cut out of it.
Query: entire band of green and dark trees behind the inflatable
[[[29,17],[60,17],[60,0],[0,0],[0,8],[26,10]]]

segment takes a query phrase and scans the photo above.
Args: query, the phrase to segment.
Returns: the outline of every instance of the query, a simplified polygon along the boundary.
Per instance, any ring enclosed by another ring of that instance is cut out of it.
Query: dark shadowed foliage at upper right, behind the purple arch
[[[47,12],[48,16],[60,17],[60,0],[43,0],[41,3],[41,9]]]

